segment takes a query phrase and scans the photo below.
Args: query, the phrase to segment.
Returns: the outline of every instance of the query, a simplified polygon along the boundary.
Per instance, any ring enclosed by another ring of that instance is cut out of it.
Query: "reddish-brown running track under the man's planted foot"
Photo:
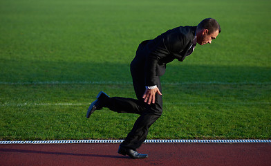
[[[0,145],[0,165],[271,165],[270,143],[144,143],[149,158],[117,153],[119,144]]]

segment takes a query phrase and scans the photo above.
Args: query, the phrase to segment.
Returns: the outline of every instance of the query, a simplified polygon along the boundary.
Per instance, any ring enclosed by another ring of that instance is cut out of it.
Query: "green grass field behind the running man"
[[[122,139],[137,115],[86,110],[136,98],[138,44],[207,17],[221,24],[161,77],[148,139],[271,139],[271,1],[0,1],[0,140]]]

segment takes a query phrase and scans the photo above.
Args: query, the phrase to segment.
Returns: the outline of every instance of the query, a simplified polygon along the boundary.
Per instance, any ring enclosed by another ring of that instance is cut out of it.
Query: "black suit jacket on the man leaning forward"
[[[144,75],[145,86],[158,84],[166,64],[178,59],[183,62],[196,35],[196,26],[180,26],[162,33],[155,39],[145,40],[131,62],[132,75]]]

